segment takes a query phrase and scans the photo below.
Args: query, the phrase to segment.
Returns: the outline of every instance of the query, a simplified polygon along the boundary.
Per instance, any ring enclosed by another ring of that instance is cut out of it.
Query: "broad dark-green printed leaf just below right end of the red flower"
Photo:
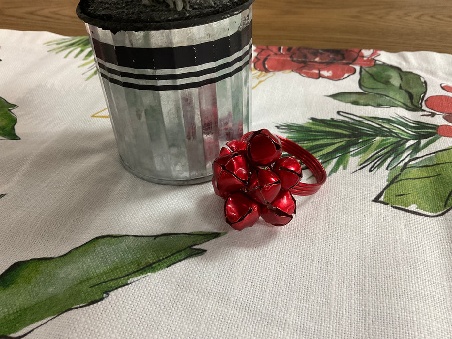
[[[359,87],[364,92],[383,95],[394,103],[392,106],[423,111],[422,100],[427,84],[418,74],[391,65],[376,64],[361,67],[360,75]]]

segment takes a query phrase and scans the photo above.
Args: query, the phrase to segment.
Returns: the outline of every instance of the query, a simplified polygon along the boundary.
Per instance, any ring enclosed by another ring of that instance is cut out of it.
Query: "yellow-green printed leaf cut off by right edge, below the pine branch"
[[[452,209],[452,147],[391,170],[388,182],[374,202],[423,216],[444,215]]]

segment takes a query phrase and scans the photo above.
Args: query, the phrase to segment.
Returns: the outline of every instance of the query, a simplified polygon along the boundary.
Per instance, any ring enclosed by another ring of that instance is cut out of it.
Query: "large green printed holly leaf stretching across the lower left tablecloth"
[[[16,262],[0,275],[0,337],[100,302],[140,276],[204,254],[192,246],[224,234],[107,235],[59,257]]]

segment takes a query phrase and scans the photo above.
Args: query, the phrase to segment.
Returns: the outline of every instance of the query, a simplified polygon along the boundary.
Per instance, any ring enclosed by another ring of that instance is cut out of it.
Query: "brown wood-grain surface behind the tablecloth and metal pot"
[[[0,0],[0,28],[85,35],[78,0]],[[256,0],[253,42],[452,54],[451,0]]]

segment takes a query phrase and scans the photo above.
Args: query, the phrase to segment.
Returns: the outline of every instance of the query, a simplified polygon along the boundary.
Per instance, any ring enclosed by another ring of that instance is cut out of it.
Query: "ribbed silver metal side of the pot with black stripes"
[[[160,184],[207,181],[220,146],[249,131],[251,4],[195,26],[116,33],[79,15],[128,171]]]

